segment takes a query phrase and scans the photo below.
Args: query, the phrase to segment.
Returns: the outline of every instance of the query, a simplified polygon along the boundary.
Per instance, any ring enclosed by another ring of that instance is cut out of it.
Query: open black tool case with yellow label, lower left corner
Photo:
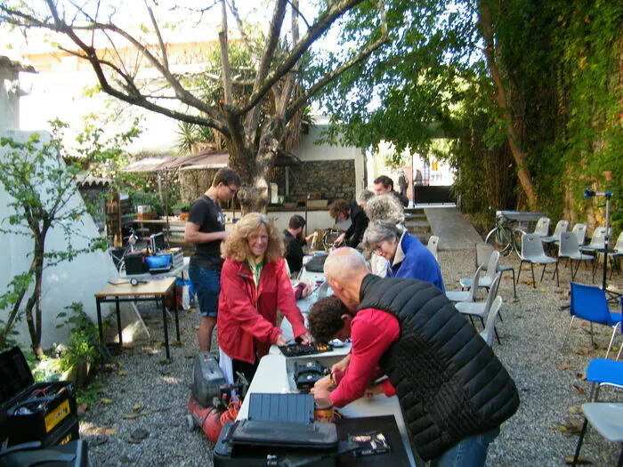
[[[79,438],[74,383],[35,383],[19,347],[0,353],[0,407],[8,415],[8,446],[41,441],[50,447]]]

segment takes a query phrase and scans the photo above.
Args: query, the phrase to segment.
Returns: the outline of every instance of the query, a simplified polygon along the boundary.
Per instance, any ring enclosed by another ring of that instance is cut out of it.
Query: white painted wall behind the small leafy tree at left
[[[45,132],[37,132],[42,135],[43,141],[49,141],[50,135]],[[9,132],[18,141],[28,140],[28,132]],[[0,157],[6,157],[4,148],[0,148]],[[46,187],[40,187],[42,192]],[[0,184],[0,220],[6,219],[9,215],[9,195]],[[75,192],[69,201],[70,206],[83,203],[80,194]],[[76,222],[75,229],[77,236],[73,239],[76,247],[86,246],[91,238],[98,235],[93,219],[90,215],[85,215],[80,221]],[[0,268],[0,290],[6,289],[6,285],[13,276],[28,270],[32,251],[32,239],[14,234],[0,233],[0,245],[2,245],[2,264]],[[46,238],[46,246],[49,249],[61,249],[66,245],[63,233],[60,229],[52,229]],[[86,313],[97,322],[95,311],[95,299],[93,294],[101,289],[102,286],[111,278],[117,278],[110,255],[107,252],[95,252],[82,254],[73,262],[62,262],[61,264],[44,270],[42,309],[43,309],[43,335],[42,345],[45,348],[52,346],[53,342],[63,342],[67,337],[66,329],[56,329],[61,323],[56,315],[63,311],[63,308],[71,302],[82,302]],[[108,310],[102,310],[106,315]],[[4,318],[8,316],[6,310],[0,311]],[[28,345],[30,342],[28,329],[25,322],[18,328],[20,331],[20,342]]]

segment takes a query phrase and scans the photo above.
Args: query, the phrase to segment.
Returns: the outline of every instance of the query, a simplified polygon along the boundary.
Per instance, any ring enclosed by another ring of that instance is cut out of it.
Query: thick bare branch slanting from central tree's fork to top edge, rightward
[[[352,7],[360,4],[362,1],[363,0],[343,0],[342,2],[331,4],[329,9],[324,12],[324,14],[320,15],[318,20],[307,30],[301,41],[293,47],[285,60],[279,64],[279,67],[266,75],[265,79],[262,79],[259,85],[255,87],[254,92],[247,101],[247,105],[237,109],[236,112],[240,115],[244,115],[249,110],[254,109],[257,103],[263,99],[264,94],[271,89],[271,86],[277,83],[282,76],[286,75],[290,68],[295,66],[296,61],[301,58],[303,53],[310,48],[314,41],[324,34],[324,32],[331,27],[331,24],[342,16],[344,12],[352,9]],[[258,74],[258,77],[259,76],[261,75]]]

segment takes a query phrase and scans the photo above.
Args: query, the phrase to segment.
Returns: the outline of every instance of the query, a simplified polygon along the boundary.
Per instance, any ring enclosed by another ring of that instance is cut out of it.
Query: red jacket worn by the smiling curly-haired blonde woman
[[[255,363],[277,342],[281,329],[277,308],[292,323],[295,337],[305,334],[305,321],[295,302],[283,258],[263,266],[255,289],[247,263],[225,260],[218,305],[218,343],[231,358]]]

